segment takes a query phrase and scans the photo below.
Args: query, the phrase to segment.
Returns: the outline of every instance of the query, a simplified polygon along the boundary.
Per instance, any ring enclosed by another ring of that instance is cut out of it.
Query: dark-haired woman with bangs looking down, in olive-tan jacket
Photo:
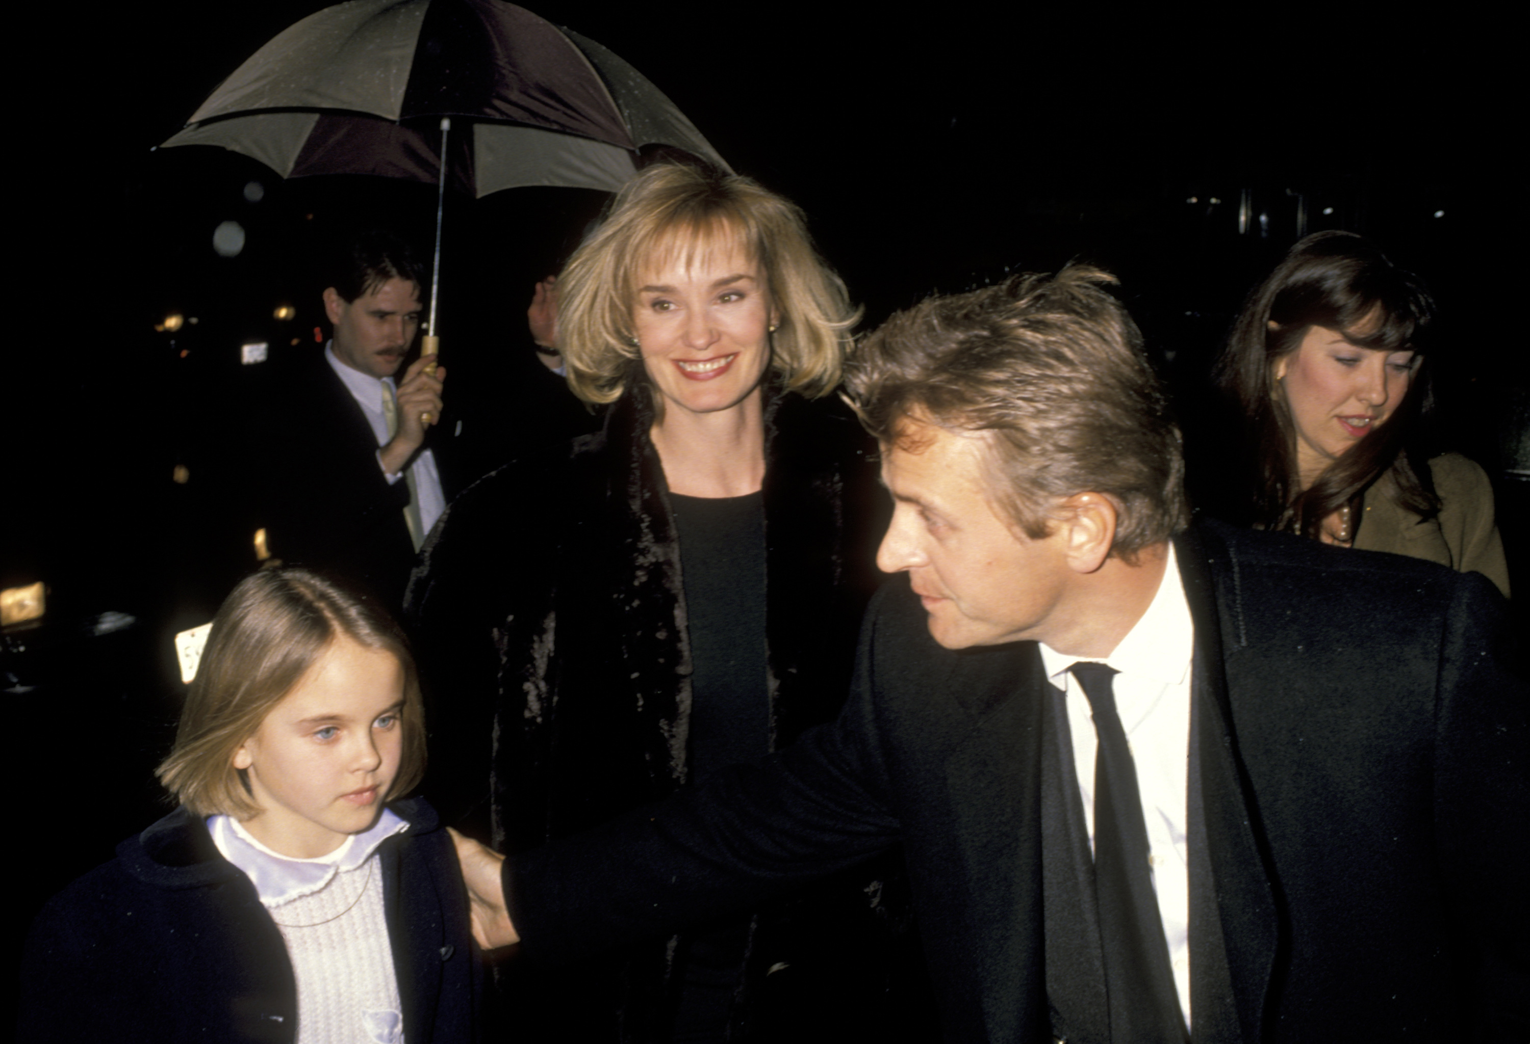
[[[1265,529],[1480,572],[1509,595],[1487,475],[1417,446],[1434,315],[1420,280],[1360,235],[1291,248],[1218,368],[1248,425],[1242,507]]]

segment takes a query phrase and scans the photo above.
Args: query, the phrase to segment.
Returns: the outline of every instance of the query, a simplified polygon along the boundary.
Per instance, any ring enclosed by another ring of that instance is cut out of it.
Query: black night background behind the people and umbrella
[[[254,564],[248,530],[223,509],[240,475],[220,446],[259,399],[260,367],[240,367],[239,345],[312,345],[324,284],[309,260],[327,231],[396,220],[428,243],[428,186],[283,183],[222,151],[150,151],[320,6],[119,5],[89,21],[55,5],[17,37],[47,73],[21,76],[35,96],[12,110],[12,160],[32,154],[15,164],[28,188],[11,194],[12,228],[32,229],[24,252],[12,240],[12,260],[17,318],[34,333],[6,352],[0,585],[46,581],[49,611],[0,640],[11,792],[55,827],[26,870],[20,928],[162,810],[150,773],[182,695],[171,636],[205,622]],[[1440,300],[1447,433],[1493,474],[1527,590],[1530,480],[1507,475],[1530,466],[1513,434],[1530,410],[1512,319],[1521,295],[1506,290],[1521,284],[1507,246],[1524,228],[1522,165],[1499,145],[1522,135],[1493,46],[1507,26],[1345,6],[531,8],[620,53],[736,171],[802,205],[866,306],[863,329],[1005,269],[1077,257],[1115,271],[1192,430],[1210,416],[1200,385],[1210,358],[1242,295],[1294,242],[1299,203],[1307,231],[1374,235]],[[249,182],[263,186],[259,202]],[[1258,222],[1238,232],[1242,193],[1267,217],[1264,234]],[[568,190],[448,199],[448,407],[456,391],[491,408],[513,381],[531,283],[598,206]],[[234,258],[211,248],[225,220],[248,232]],[[274,319],[278,304],[297,316]],[[197,323],[158,333],[171,312]],[[171,481],[176,465],[188,483]],[[96,634],[124,622],[103,627],[104,613],[133,622]]]

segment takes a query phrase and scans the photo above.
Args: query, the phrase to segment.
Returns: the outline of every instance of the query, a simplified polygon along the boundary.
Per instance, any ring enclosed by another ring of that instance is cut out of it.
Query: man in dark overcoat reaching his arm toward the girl
[[[952,1041],[1524,1038],[1530,723],[1501,598],[1187,526],[1109,283],[1017,277],[868,338],[848,384],[900,576],[845,712],[503,865],[461,842],[485,943],[659,934],[903,841]]]

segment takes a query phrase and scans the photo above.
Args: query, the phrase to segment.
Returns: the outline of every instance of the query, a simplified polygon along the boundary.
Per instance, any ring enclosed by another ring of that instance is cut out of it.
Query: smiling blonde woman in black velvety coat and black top
[[[829,720],[875,584],[871,446],[829,396],[858,313],[796,206],[653,167],[557,286],[569,387],[612,404],[606,426],[464,494],[410,587],[454,769],[427,790],[487,806],[500,851]],[[754,1024],[767,969],[834,960],[820,934],[837,929],[806,902],[536,980],[517,1024],[540,1006],[525,1039],[724,1039]],[[852,991],[864,965],[838,963]]]

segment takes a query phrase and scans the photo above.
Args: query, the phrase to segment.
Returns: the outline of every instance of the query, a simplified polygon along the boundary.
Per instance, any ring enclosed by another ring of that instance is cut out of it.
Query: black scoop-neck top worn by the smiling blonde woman
[[[687,778],[770,752],[765,500],[670,494],[690,634]]]

